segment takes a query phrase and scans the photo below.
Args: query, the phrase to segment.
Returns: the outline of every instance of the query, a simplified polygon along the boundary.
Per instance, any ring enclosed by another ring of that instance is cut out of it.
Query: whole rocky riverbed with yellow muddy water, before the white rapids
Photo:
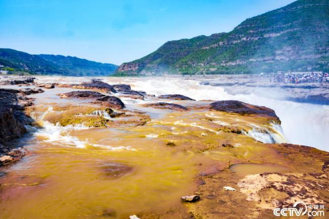
[[[26,154],[0,167],[2,218],[273,218],[296,201],[329,207],[329,153],[289,144],[274,110],[129,82],[0,82],[3,156]]]

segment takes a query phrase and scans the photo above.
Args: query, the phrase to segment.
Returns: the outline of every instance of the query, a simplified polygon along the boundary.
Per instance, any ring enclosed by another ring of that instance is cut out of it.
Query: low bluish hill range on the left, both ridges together
[[[31,55],[12,49],[0,49],[0,64],[31,74],[72,76],[107,76],[118,67],[71,56]]]

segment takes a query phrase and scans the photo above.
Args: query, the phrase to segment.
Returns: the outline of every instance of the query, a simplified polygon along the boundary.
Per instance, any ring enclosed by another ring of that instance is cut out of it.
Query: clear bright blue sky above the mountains
[[[0,0],[0,48],[120,65],[293,0]]]

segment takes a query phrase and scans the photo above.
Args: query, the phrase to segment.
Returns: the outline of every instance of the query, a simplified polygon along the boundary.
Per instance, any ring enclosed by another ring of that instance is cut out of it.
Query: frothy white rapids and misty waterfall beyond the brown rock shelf
[[[220,76],[219,76],[220,77]],[[275,110],[287,143],[306,145],[329,151],[329,106],[276,100],[266,95],[228,94],[224,87],[204,85],[200,77],[97,77],[109,84],[130,84],[133,90],[151,95],[181,94],[195,100],[239,100]],[[37,82],[80,83],[91,77],[38,77]],[[218,78],[216,78],[218,80]],[[208,79],[209,81],[211,80]],[[272,96],[271,96],[272,97]],[[125,104],[132,104],[126,101]]]

